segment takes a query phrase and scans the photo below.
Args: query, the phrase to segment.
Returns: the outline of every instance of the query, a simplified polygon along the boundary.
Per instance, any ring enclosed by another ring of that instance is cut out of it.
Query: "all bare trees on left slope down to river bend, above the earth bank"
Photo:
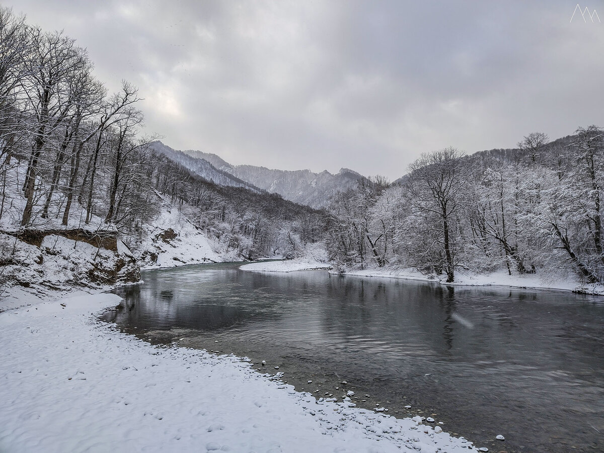
[[[242,259],[303,252],[318,211],[220,187],[152,152],[138,89],[108,93],[85,48],[0,7],[0,225],[117,229],[137,246],[165,199]]]

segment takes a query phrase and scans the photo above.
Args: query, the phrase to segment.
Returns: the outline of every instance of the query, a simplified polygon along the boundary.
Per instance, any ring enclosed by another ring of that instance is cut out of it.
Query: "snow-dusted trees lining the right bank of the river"
[[[454,281],[460,269],[602,283],[604,133],[579,127],[513,153],[423,154],[397,184],[381,177],[338,194],[327,248],[342,268],[415,268]]]

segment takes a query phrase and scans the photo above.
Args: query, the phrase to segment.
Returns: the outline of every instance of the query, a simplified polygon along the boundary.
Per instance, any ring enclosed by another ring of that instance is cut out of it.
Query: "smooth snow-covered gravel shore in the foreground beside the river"
[[[97,321],[112,294],[0,313],[0,451],[476,451],[419,419],[315,400],[234,356]]]

